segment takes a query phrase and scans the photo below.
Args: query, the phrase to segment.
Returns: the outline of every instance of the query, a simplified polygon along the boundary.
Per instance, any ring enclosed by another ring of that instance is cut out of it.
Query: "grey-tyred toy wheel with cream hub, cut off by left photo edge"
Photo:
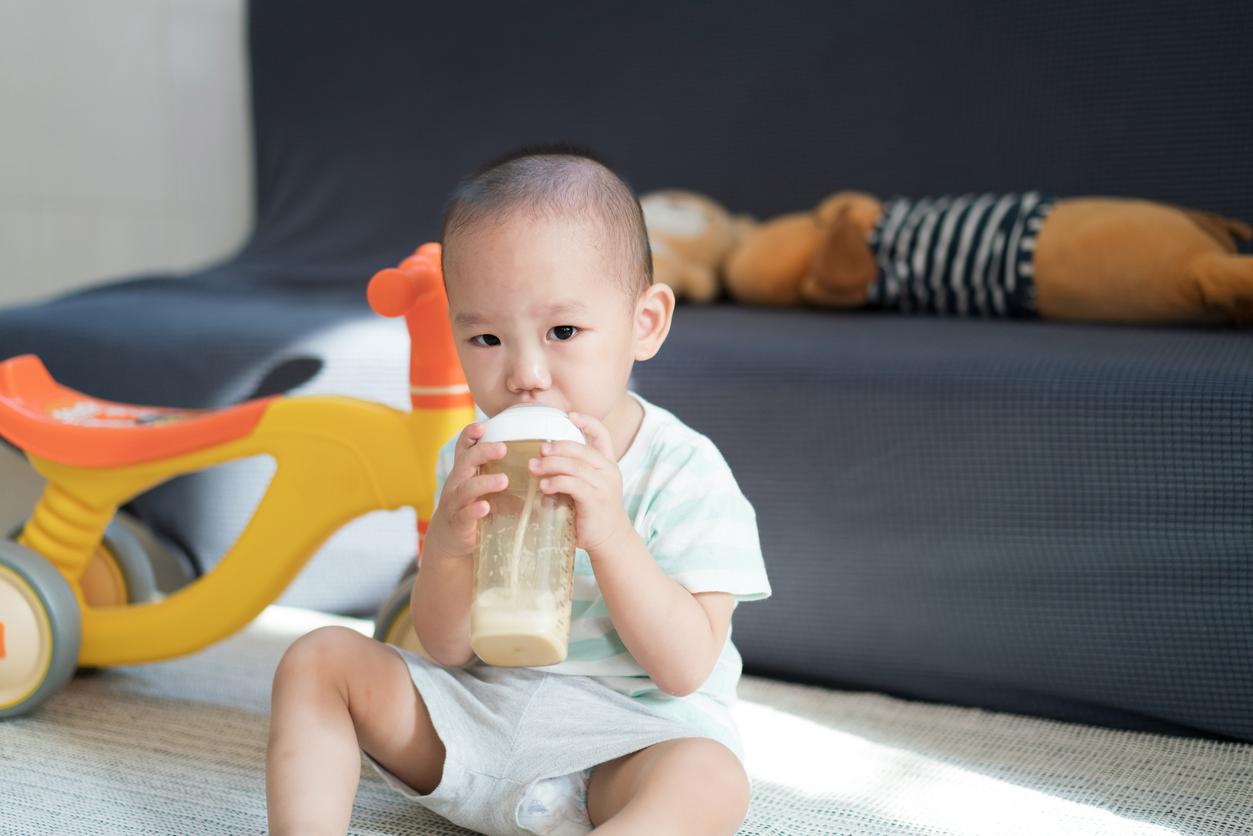
[[[39,554],[0,541],[0,717],[24,714],[69,682],[83,620],[65,578]]]

